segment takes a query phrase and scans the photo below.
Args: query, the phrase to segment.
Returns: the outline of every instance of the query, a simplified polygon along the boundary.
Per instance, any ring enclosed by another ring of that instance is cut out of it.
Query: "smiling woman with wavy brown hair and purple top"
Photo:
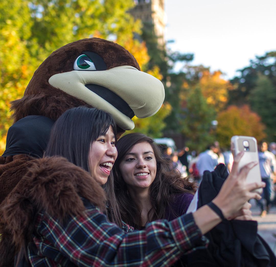
[[[187,211],[196,184],[169,168],[152,138],[131,133],[123,136],[116,147],[114,186],[123,221],[142,229],[148,222],[170,221]]]

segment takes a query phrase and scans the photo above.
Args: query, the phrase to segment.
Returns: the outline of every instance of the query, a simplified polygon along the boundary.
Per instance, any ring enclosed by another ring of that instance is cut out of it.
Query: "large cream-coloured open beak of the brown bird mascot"
[[[102,71],[58,73],[49,84],[102,109],[124,130],[134,128],[134,115],[145,118],[154,115],[164,101],[164,86],[155,77],[131,66],[119,66]]]

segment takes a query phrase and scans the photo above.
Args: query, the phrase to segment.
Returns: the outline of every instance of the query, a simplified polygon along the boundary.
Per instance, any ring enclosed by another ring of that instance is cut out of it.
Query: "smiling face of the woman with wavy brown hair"
[[[119,169],[128,187],[149,187],[156,176],[156,159],[152,146],[147,142],[136,144],[124,156]]]

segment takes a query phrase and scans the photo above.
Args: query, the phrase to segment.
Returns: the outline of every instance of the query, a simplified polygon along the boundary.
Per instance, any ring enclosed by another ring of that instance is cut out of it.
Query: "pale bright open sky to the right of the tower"
[[[225,78],[255,55],[276,50],[276,0],[165,0],[166,39],[174,51],[193,52],[193,65]]]

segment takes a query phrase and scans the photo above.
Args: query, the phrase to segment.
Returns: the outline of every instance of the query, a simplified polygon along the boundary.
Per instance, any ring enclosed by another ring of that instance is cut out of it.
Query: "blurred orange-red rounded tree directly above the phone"
[[[229,106],[217,115],[217,122],[217,140],[224,148],[230,147],[233,135],[254,136],[257,141],[266,137],[260,116],[251,111],[248,105]]]

